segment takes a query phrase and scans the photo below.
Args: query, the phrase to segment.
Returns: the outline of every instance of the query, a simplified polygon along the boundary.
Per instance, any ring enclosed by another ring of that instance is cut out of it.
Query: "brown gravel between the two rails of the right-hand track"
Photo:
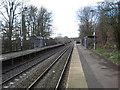
[[[70,51],[67,50],[34,88],[55,88],[69,53]]]

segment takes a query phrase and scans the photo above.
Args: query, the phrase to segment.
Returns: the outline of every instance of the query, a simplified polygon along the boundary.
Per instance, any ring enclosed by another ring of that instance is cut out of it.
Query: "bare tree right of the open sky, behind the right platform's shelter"
[[[92,17],[91,7],[84,7],[77,12],[79,23],[80,37],[83,39],[85,36],[92,35]]]

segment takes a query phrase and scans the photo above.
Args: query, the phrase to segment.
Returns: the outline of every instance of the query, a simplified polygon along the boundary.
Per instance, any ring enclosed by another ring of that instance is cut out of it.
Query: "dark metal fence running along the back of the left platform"
[[[36,42],[37,42],[37,44],[40,44],[40,43],[38,43],[38,41],[36,41]],[[26,40],[26,41],[22,41],[22,44],[21,44],[20,40],[13,40],[12,45],[11,45],[11,47],[12,47],[12,50],[11,50],[9,41],[3,40],[2,41],[2,54],[38,48],[38,45],[36,45],[36,42],[33,40]],[[55,40],[45,40],[44,43],[46,43],[45,46],[56,44]],[[40,46],[39,46],[39,48],[40,48]]]

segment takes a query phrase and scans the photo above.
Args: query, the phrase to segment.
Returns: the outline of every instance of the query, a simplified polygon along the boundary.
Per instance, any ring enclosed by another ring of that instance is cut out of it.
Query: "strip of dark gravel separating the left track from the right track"
[[[56,55],[48,58],[43,61],[39,65],[37,65],[34,69],[29,72],[27,78],[25,78],[21,83],[17,85],[17,88],[26,88],[28,87],[60,54],[56,53]]]

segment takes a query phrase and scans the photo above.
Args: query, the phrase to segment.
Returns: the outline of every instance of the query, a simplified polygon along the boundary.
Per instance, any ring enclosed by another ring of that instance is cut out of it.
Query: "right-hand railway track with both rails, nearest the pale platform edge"
[[[69,46],[69,48],[60,54],[59,57],[27,87],[26,90],[31,90],[33,88],[54,88],[57,90],[69,62],[72,48],[72,46]]]

